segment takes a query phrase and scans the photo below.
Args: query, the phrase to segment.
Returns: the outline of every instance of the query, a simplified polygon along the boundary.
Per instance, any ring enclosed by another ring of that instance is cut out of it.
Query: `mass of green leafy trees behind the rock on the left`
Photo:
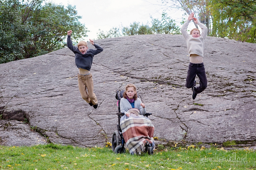
[[[67,30],[77,42],[87,28],[79,22],[76,7],[43,0],[0,2],[0,63],[35,57],[66,46]]]

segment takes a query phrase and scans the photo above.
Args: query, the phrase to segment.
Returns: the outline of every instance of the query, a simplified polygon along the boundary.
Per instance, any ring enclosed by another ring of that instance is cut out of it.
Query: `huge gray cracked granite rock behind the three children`
[[[192,90],[184,87],[189,57],[182,35],[138,35],[96,43],[104,48],[94,56],[91,69],[99,101],[96,110],[81,98],[74,54],[64,48],[0,65],[2,118],[27,119],[54,143],[102,146],[116,130],[116,90],[134,83],[147,112],[153,114],[149,118],[158,138],[188,143],[256,141],[256,44],[206,37],[208,87],[192,100]]]

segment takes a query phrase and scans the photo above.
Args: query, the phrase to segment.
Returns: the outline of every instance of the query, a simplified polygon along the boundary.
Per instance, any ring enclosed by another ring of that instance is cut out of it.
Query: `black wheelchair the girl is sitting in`
[[[116,99],[118,100],[118,102],[117,102],[118,103],[118,113],[116,113],[118,116],[118,124],[116,125],[117,131],[114,131],[114,133],[112,135],[112,150],[115,153],[125,153],[125,148],[124,148],[125,141],[124,141],[121,127],[120,127],[120,119],[122,116],[124,116],[124,112],[121,112],[121,110],[120,110],[120,100],[121,100],[121,98],[123,98],[123,93],[124,93],[124,90],[122,90],[121,92],[116,91]],[[137,92],[137,94],[138,94],[138,92]],[[140,97],[140,96],[138,95],[138,97]],[[141,99],[141,97],[140,97],[140,99]],[[141,99],[141,101],[142,101],[142,99]],[[152,115],[152,114],[151,113],[145,114],[146,117],[148,117],[149,115]],[[149,155],[152,155],[153,154],[152,147],[149,145],[145,145],[145,152],[148,152]]]

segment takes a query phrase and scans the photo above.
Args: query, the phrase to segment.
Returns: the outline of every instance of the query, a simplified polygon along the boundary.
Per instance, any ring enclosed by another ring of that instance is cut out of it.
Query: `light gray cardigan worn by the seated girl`
[[[137,100],[134,101],[134,108],[140,110],[140,114],[141,115],[145,115],[146,114],[146,107],[143,108],[142,106],[140,106],[141,100],[139,98],[137,98]],[[121,112],[126,112],[129,109],[132,109],[132,105],[130,104],[130,102],[125,99],[122,98],[120,101],[120,110]]]

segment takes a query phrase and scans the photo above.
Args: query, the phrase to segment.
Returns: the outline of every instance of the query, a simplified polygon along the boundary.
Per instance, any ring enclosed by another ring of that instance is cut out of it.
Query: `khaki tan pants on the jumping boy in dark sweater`
[[[81,93],[82,98],[87,102],[91,103],[93,105],[98,103],[97,97],[93,93],[93,80],[92,80],[92,74],[88,75],[77,75],[78,77],[78,87],[79,91]],[[87,89],[87,91],[86,91]]]

